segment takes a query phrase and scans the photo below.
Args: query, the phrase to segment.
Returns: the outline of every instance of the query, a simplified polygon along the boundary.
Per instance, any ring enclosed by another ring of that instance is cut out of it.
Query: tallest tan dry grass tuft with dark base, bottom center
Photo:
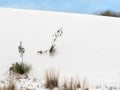
[[[54,88],[58,87],[59,73],[55,69],[48,69],[45,72],[45,87]]]

